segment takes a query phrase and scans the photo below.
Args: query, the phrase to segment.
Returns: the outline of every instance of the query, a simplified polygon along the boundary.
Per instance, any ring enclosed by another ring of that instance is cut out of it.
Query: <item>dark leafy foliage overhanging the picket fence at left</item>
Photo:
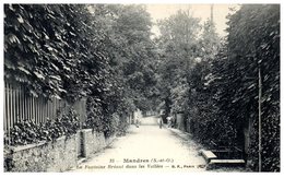
[[[5,81],[21,83],[34,96],[69,103],[86,96],[98,98],[97,107],[109,103],[105,34],[87,5],[7,4],[4,12]]]

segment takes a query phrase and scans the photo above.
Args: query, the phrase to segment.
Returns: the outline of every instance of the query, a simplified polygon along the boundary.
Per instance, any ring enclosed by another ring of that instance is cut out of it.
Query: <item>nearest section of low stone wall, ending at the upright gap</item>
[[[11,149],[4,158],[5,171],[63,171],[76,166],[78,134]]]

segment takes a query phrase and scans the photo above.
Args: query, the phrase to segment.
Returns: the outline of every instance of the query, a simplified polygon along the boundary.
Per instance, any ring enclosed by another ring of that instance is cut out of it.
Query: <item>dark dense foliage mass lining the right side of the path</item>
[[[192,121],[202,126],[196,134],[202,135],[200,139],[204,141],[241,147],[244,128],[251,120],[253,128],[248,158],[252,161],[252,169],[258,170],[258,95],[261,87],[262,170],[279,171],[279,5],[244,5],[229,17],[227,44],[224,46],[225,50],[216,56],[208,75],[200,75],[204,81],[197,82],[202,87],[196,87],[199,97],[193,99],[193,107],[199,112]],[[258,85],[259,70],[262,86]],[[200,99],[204,102],[199,106]]]

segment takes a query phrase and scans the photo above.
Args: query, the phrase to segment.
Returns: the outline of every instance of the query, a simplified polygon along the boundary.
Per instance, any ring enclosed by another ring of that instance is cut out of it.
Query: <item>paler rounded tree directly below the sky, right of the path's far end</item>
[[[165,102],[166,115],[176,97],[179,99],[177,110],[182,110],[182,95],[187,90],[186,75],[197,58],[199,19],[190,10],[179,10],[176,14],[158,22],[161,37],[159,48],[159,90],[161,99]],[[177,104],[177,103],[176,103]]]

